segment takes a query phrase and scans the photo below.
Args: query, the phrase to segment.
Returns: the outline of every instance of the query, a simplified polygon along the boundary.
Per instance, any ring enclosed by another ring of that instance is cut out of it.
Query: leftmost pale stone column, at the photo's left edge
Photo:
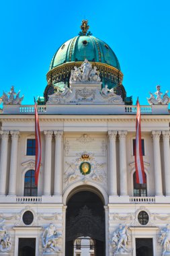
[[[5,195],[7,179],[7,142],[9,131],[0,131],[1,134],[1,159],[0,159],[0,195]]]

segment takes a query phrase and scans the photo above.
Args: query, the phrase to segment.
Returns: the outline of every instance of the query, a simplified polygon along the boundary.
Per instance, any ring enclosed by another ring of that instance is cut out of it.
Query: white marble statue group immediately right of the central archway
[[[126,254],[129,253],[127,248],[128,243],[128,227],[123,226],[122,224],[119,225],[119,228],[113,233],[111,244],[113,249],[116,249],[114,255],[116,254]]]

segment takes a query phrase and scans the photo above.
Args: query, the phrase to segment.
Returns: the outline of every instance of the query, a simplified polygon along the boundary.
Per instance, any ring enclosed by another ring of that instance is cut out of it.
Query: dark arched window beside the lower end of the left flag
[[[24,179],[24,195],[26,196],[37,196],[37,186],[35,185],[35,171],[28,170],[25,174]]]

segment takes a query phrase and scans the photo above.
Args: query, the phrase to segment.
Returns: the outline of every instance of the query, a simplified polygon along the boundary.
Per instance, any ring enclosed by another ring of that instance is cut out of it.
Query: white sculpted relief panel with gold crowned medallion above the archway
[[[83,134],[65,138],[64,187],[77,181],[107,184],[106,140]]]

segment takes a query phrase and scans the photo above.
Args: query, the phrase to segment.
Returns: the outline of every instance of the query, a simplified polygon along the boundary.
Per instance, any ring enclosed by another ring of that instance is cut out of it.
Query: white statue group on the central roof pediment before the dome
[[[70,82],[100,82],[99,71],[97,67],[92,68],[91,63],[85,59],[81,67],[74,67],[71,70]]]

